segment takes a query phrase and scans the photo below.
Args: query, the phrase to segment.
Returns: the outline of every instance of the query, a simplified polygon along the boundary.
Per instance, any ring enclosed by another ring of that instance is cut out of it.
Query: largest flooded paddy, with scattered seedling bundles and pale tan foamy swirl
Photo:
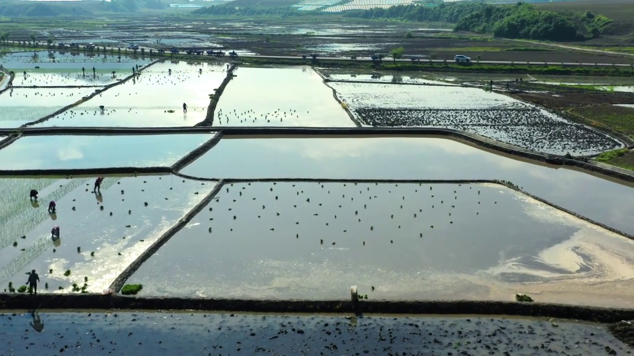
[[[634,307],[632,254],[633,241],[495,184],[245,182],[129,281],[160,296],[332,300],[357,285],[372,299]]]

